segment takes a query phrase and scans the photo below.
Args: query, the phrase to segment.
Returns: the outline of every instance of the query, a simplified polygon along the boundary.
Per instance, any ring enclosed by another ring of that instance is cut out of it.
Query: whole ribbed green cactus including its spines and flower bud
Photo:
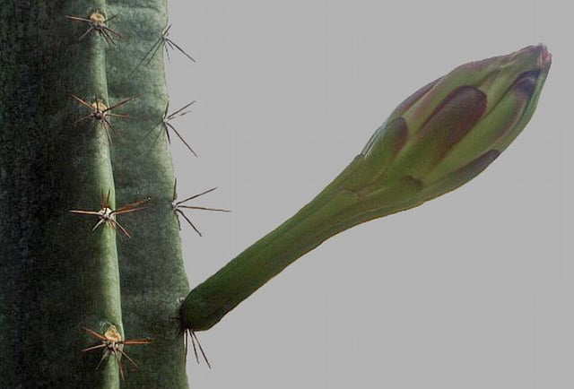
[[[182,208],[209,191],[176,200],[169,131],[195,151],[169,123],[188,106],[170,113],[162,50],[195,60],[168,38],[165,1],[0,12],[2,387],[187,387],[186,335],[196,347],[194,331],[335,233],[474,177],[526,125],[550,67],[544,47],[525,48],[415,93],[313,202],[189,293],[178,216],[196,229]],[[463,87],[479,101],[440,117]],[[425,141],[425,115],[464,125]]]

